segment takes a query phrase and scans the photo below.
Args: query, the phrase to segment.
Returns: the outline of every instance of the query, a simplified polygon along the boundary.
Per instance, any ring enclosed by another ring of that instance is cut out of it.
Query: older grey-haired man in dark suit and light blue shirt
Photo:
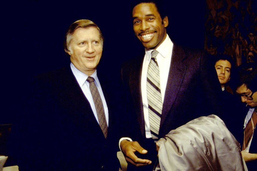
[[[75,21],[64,49],[70,65],[35,78],[27,110],[13,125],[10,156],[20,171],[118,170],[108,78],[96,70],[103,35],[94,22]]]

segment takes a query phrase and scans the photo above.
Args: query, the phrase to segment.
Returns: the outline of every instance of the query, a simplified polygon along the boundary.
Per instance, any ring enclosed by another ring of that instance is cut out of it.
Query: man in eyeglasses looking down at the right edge
[[[241,143],[242,156],[249,171],[256,170],[257,165],[257,135],[254,130],[257,123],[257,65],[246,63],[238,68],[238,75],[233,80],[233,89],[241,96],[249,111],[244,120],[244,139]]]

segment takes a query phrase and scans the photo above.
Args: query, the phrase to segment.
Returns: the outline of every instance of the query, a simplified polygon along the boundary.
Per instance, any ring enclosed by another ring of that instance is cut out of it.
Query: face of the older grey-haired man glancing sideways
[[[93,26],[76,29],[72,34],[68,49],[73,65],[91,76],[96,70],[103,51],[99,31]]]

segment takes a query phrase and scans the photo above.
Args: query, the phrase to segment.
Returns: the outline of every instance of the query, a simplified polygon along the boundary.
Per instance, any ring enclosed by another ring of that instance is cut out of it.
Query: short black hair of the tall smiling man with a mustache
[[[157,8],[157,11],[159,12],[161,18],[163,19],[165,16],[168,17],[168,13],[167,13],[167,4],[164,3],[163,0],[135,0],[135,1],[132,1],[131,3],[131,13],[134,9],[134,7],[138,4],[142,4],[142,3],[153,3],[155,4],[156,8]]]

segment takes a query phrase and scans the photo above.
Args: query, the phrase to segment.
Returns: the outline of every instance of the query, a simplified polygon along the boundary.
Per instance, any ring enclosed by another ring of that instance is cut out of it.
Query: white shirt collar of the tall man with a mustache
[[[161,56],[164,57],[164,58],[166,57],[166,55],[169,52],[169,48],[167,48],[167,47],[170,47],[170,48],[173,47],[173,43],[172,43],[170,37],[168,36],[168,34],[166,34],[166,35],[167,36],[166,36],[165,40],[156,49],[159,52],[159,54],[161,54]],[[152,51],[153,51],[153,49],[145,48],[145,55],[147,57],[147,60],[150,59]]]

